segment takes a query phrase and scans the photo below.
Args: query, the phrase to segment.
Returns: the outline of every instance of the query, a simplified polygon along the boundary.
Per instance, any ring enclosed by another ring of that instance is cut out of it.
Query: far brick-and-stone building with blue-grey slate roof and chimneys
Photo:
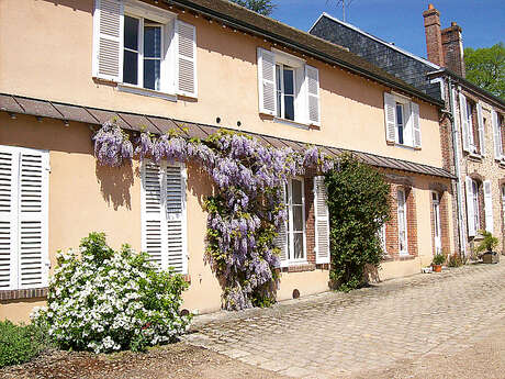
[[[415,56],[329,14],[322,14],[311,33],[348,47],[419,90],[445,102],[440,121],[444,167],[458,177],[453,182],[453,231],[458,249],[473,255],[479,231],[501,241],[504,252],[503,116],[505,102],[464,79],[462,30],[452,22],[440,27],[434,5],[423,13],[427,57]]]

